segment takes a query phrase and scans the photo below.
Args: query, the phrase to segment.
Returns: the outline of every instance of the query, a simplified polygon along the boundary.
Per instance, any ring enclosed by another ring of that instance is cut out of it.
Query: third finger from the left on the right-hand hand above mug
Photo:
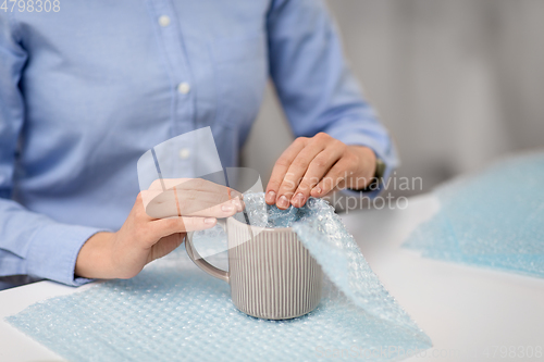
[[[341,147],[327,147],[310,162],[296,191],[290,198],[290,204],[301,208],[310,197],[310,192],[331,167],[341,159],[343,149]]]

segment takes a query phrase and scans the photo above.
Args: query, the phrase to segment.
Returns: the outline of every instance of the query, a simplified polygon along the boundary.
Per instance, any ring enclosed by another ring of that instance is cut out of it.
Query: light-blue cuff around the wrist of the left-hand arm
[[[52,223],[42,226],[33,236],[28,248],[27,274],[71,286],[81,286],[92,279],[75,277],[75,262],[83,245],[99,228]]]

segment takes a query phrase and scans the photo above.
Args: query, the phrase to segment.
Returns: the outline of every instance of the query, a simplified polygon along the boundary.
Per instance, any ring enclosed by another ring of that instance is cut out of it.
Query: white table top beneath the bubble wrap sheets
[[[507,361],[531,351],[532,359],[519,360],[543,360],[534,351],[544,348],[544,279],[424,259],[400,248],[438,208],[432,196],[420,196],[406,210],[343,215],[372,270],[433,340],[433,349],[410,360]],[[0,291],[0,361],[63,361],[3,317],[86,287],[39,282]]]

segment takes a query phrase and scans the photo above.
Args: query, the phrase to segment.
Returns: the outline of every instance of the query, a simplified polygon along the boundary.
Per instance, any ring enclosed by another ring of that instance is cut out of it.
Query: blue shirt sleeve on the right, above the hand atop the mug
[[[362,98],[322,1],[274,0],[267,26],[270,74],[295,136],[324,132],[369,147],[385,163],[386,179],[398,165],[395,147]]]

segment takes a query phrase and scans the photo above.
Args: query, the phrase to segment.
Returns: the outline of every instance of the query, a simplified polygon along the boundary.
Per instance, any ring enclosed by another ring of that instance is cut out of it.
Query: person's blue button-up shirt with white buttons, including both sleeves
[[[395,151],[317,0],[70,0],[0,10],[0,275],[78,285],[153,146],[210,126],[234,166],[272,78],[295,136]],[[181,161],[182,162],[182,161]]]

